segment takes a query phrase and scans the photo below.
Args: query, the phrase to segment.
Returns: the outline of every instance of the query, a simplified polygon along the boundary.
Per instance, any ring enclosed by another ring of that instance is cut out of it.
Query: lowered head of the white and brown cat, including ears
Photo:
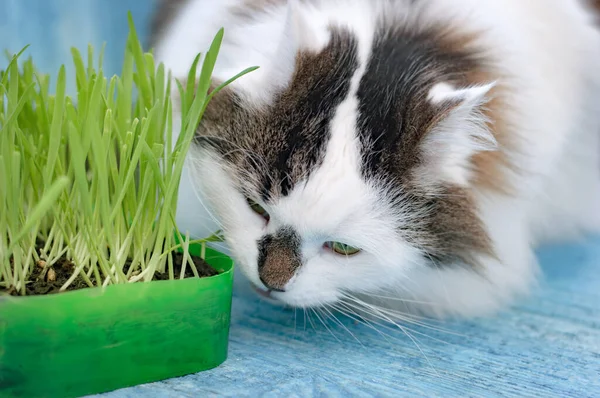
[[[497,148],[494,84],[465,73],[477,57],[433,28],[367,42],[302,24],[290,19],[261,74],[214,97],[192,149],[238,266],[300,307],[407,285],[419,267],[477,267],[493,249],[474,157]]]

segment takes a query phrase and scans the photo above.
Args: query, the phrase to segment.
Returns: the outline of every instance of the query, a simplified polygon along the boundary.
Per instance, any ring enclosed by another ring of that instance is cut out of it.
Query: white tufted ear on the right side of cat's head
[[[439,83],[431,88],[427,100],[441,116],[421,143],[423,162],[416,170],[420,182],[468,186],[473,156],[498,149],[484,112],[494,86],[455,88]]]

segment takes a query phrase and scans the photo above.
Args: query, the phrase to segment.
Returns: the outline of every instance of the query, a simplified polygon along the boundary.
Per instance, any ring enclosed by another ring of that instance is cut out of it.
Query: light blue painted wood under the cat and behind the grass
[[[0,48],[25,44],[53,73],[69,48],[107,42],[117,73],[131,9],[142,34],[153,1],[0,0]],[[0,67],[5,61],[0,61]],[[258,299],[238,277],[230,357],[213,371],[105,394],[122,397],[600,397],[600,238],[544,248],[545,279],[489,319],[375,331],[340,317],[323,326]],[[383,334],[382,334],[383,333]],[[90,358],[93,360],[93,358]]]

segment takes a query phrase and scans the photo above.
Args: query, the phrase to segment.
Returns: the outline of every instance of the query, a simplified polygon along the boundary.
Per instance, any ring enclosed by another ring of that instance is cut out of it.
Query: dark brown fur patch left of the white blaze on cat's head
[[[353,34],[331,29],[324,48],[298,52],[289,83],[268,105],[221,91],[206,110],[198,140],[213,144],[245,191],[264,202],[287,197],[322,168],[338,109],[352,96],[357,49]],[[355,120],[356,107],[346,117]]]

